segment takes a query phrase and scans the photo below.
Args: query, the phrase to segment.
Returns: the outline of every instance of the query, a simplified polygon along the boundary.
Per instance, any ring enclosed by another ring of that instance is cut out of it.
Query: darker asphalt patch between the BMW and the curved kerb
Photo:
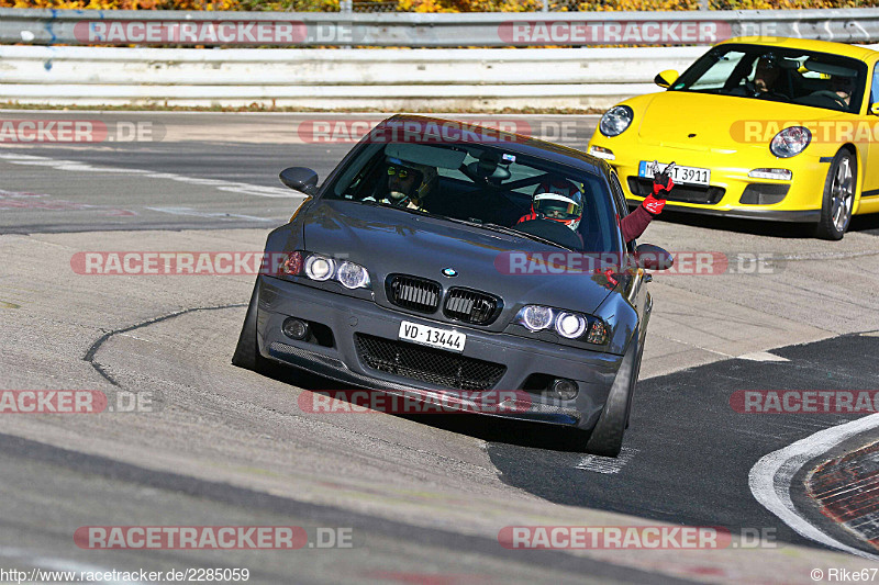
[[[576,466],[566,464],[577,454],[546,457],[539,449],[552,449],[552,441],[490,443],[489,454],[504,481],[550,502],[690,526],[716,522],[738,532],[772,527],[780,541],[809,545],[754,499],[748,471],[764,454],[803,434],[860,415],[737,413],[730,398],[741,390],[875,387],[877,350],[879,338],[850,335],[772,350],[785,362],[720,361],[646,380],[633,410],[631,428],[637,432],[626,441],[637,457],[615,475],[578,481]],[[877,438],[865,436],[864,445]],[[547,484],[550,475],[554,481]],[[822,526],[831,529],[833,522]]]

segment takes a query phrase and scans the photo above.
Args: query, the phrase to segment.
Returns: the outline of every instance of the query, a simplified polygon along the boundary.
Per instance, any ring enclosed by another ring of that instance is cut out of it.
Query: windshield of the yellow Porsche
[[[867,65],[827,53],[721,45],[690,66],[669,91],[770,100],[857,113]]]

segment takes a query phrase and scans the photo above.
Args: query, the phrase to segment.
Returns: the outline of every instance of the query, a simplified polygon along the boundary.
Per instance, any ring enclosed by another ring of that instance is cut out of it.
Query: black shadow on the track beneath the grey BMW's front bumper
[[[267,364],[260,373],[278,382],[310,392],[364,390],[275,362]],[[374,390],[371,392],[381,391]],[[334,397],[359,407],[342,393],[335,394]],[[418,406],[413,407],[418,408]],[[581,452],[589,439],[588,432],[578,429],[476,413],[432,412],[431,414],[391,414],[389,416],[398,416],[420,425],[466,435],[486,442],[532,449]]]

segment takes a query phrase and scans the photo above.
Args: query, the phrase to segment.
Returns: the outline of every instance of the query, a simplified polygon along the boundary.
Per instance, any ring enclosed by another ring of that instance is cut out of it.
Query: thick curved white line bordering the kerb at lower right
[[[765,455],[748,473],[750,493],[766,509],[778,516],[800,536],[832,549],[879,561],[879,555],[843,544],[816,526],[809,524],[799,515],[790,498],[791,481],[806,462],[846,439],[877,427],[879,427],[879,413],[820,430],[805,439]]]

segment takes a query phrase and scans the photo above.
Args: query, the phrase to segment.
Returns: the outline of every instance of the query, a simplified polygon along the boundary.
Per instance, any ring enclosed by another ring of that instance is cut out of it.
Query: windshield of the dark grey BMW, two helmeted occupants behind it
[[[331,199],[427,213],[587,251],[619,251],[603,177],[504,150],[503,144],[370,144]]]

